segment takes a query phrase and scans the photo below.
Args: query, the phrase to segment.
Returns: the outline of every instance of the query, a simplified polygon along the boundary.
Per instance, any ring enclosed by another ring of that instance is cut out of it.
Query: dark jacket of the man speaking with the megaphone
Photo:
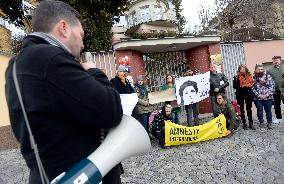
[[[34,176],[36,161],[14,86],[13,62],[6,71],[11,126]],[[85,71],[74,56],[39,37],[24,40],[17,77],[50,180],[92,153],[100,145],[101,129],[121,121],[120,97],[106,75],[99,69]]]

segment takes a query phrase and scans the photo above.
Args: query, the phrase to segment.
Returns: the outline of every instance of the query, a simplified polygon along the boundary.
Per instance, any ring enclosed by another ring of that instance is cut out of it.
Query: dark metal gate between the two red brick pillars
[[[187,66],[187,60],[183,51],[148,53],[143,55],[146,77],[151,91],[161,90],[166,82],[167,74],[175,78],[181,77]]]

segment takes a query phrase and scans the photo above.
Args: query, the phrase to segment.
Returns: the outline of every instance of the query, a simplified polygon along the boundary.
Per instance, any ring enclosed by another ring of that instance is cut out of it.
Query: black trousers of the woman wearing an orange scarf
[[[252,96],[247,96],[247,97],[237,97],[237,103],[240,106],[240,110],[241,110],[241,119],[242,119],[242,123],[246,124],[246,116],[245,116],[245,104],[246,104],[246,113],[247,113],[247,117],[249,120],[249,123],[252,124],[253,120],[252,120],[252,102],[253,102],[253,97]]]

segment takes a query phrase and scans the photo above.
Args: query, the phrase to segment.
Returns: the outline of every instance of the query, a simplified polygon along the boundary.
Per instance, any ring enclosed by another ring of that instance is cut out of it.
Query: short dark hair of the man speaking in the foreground
[[[83,26],[81,15],[69,4],[54,0],[42,1],[33,12],[33,31],[49,33],[62,19],[71,26],[77,25],[78,21]]]

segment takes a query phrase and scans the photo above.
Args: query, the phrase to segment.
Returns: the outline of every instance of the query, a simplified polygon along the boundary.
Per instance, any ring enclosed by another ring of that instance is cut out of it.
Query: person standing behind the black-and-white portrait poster
[[[186,68],[185,76],[193,76],[194,73],[190,67]],[[189,105],[185,105],[187,124],[188,126],[198,126],[199,125],[199,103],[193,103]],[[192,121],[193,117],[193,121]]]

